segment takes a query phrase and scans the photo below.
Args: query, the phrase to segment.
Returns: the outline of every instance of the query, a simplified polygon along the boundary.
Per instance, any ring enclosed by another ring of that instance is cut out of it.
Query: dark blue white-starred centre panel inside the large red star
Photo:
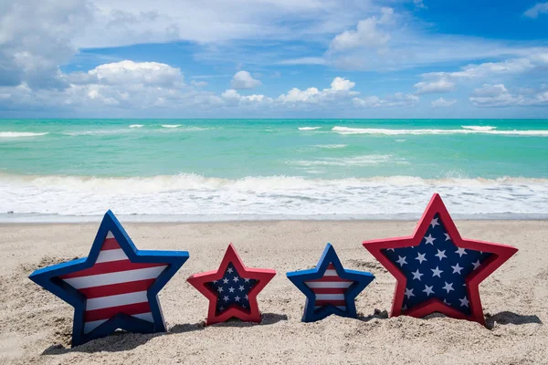
[[[382,253],[406,276],[402,310],[436,297],[467,316],[470,308],[465,279],[491,255],[454,245],[439,214],[420,245],[383,249]]]

